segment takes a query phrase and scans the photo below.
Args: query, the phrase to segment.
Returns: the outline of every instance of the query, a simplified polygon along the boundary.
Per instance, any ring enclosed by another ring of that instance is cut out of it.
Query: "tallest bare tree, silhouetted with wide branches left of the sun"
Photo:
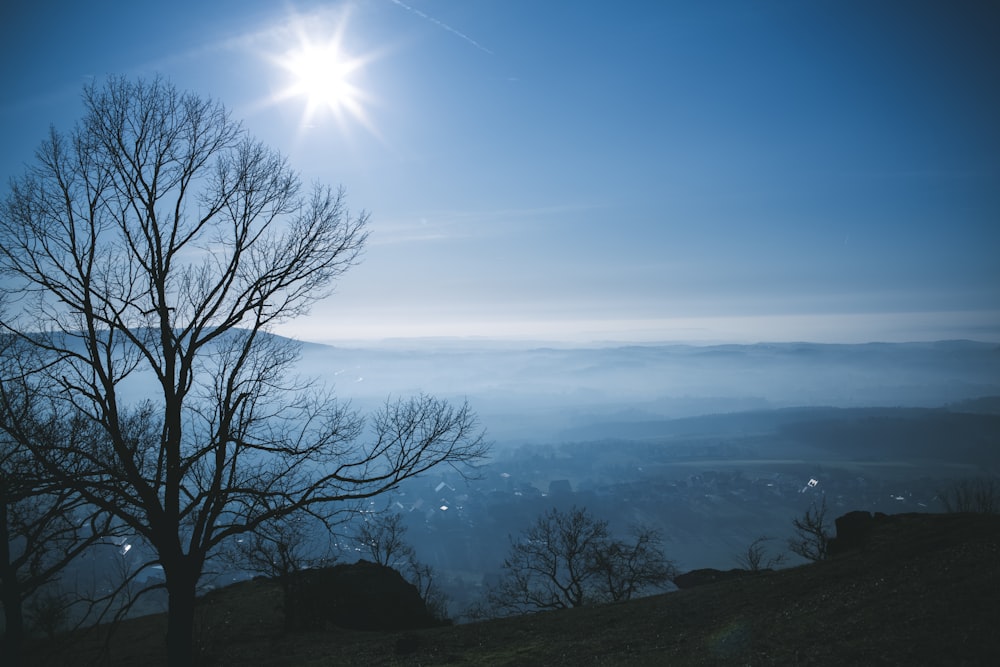
[[[44,357],[48,398],[100,431],[33,454],[155,550],[168,663],[189,665],[196,585],[224,541],[473,461],[483,434],[466,405],[387,401],[366,422],[292,376],[297,347],[270,328],[365,243],[342,192],[303,192],[220,104],[161,79],[83,100],[0,209],[0,290],[18,306],[0,328]]]

